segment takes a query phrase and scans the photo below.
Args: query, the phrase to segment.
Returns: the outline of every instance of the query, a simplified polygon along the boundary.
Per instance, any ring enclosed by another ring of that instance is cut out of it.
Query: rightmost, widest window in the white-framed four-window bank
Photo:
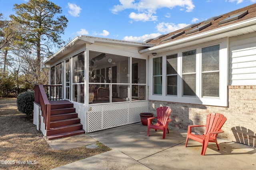
[[[219,97],[220,45],[202,48],[202,97]]]

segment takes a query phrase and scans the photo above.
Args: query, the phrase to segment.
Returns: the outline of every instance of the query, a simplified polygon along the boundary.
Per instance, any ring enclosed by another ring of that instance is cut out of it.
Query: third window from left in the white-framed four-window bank
[[[196,50],[182,53],[182,96],[196,96]]]

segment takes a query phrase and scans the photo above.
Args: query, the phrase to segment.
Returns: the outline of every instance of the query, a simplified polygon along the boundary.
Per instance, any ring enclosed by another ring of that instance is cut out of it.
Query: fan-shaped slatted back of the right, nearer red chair
[[[220,113],[210,113],[206,116],[206,128],[204,135],[207,135],[209,132],[219,131],[224,125],[227,118]],[[211,137],[216,137],[217,134],[210,135]]]

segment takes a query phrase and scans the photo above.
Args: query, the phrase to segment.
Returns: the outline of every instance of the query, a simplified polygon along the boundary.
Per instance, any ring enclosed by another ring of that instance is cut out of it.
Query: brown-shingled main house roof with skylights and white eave
[[[248,10],[248,14],[234,21],[220,23],[220,21],[232,15]],[[205,26],[205,24],[208,24]],[[209,18],[209,20],[200,23],[191,24],[184,29],[163,35],[160,38],[152,39],[147,43],[155,44],[153,47],[142,49],[140,54],[161,53],[171,51],[182,47],[206,43],[225,37],[234,37],[242,34],[256,32],[256,4],[234,10],[227,14]],[[204,26],[200,29],[201,26]],[[198,28],[198,29],[196,29]],[[172,38],[170,38],[172,37]]]

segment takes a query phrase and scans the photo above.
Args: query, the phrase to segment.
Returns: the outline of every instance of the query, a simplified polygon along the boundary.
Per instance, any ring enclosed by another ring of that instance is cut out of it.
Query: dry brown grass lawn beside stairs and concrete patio
[[[0,161],[9,163],[1,161],[0,169],[47,170],[110,150],[99,142],[96,149],[53,150],[42,136],[32,117],[18,111],[16,98],[0,98]]]

